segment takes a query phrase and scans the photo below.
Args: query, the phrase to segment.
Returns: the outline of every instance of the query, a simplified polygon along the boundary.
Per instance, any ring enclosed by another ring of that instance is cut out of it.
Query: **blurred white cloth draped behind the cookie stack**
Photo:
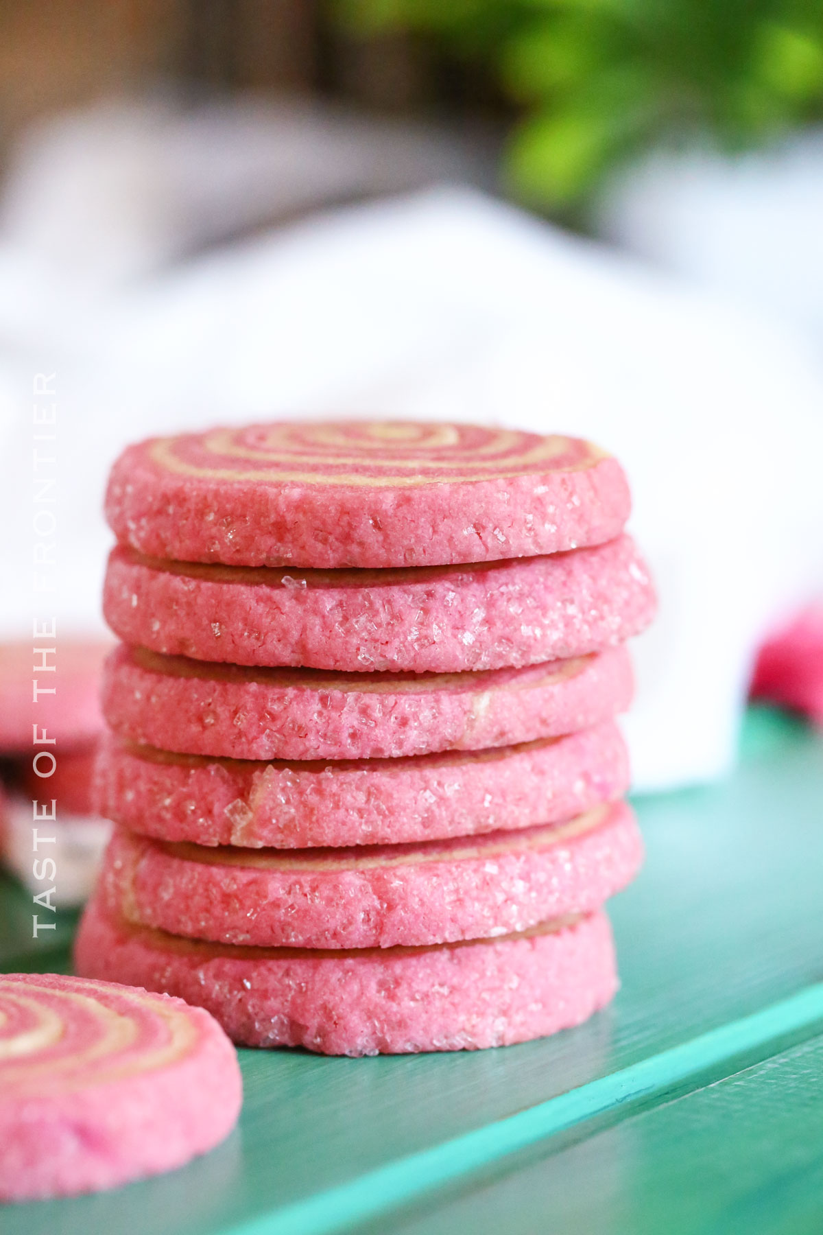
[[[374,415],[565,431],[611,448],[661,597],[635,643],[627,720],[642,789],[730,767],[758,640],[823,568],[817,358],[707,293],[471,189],[313,216],[81,290],[9,235],[0,636],[31,621],[37,371],[58,374],[64,630],[100,630],[105,475],[137,437]]]

